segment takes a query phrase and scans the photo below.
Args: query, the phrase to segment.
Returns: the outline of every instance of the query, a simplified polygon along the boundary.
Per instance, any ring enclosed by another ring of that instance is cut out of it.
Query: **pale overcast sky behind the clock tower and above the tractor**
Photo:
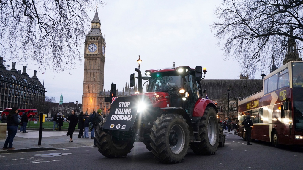
[[[236,79],[241,72],[237,61],[224,60],[223,52],[210,26],[215,20],[213,10],[219,0],[212,1],[125,1],[108,0],[98,8],[102,34],[106,41],[104,86],[108,91],[116,83],[119,91],[136,73],[136,60],[141,56],[145,70],[176,66],[207,68],[206,79]],[[100,6],[100,5],[99,5]],[[91,11],[91,19],[95,10]],[[84,55],[84,43],[82,53]],[[84,58],[76,69],[62,73],[45,70],[46,96],[59,102],[82,103]],[[10,64],[12,61],[7,61]],[[11,67],[10,67],[11,68]],[[17,70],[23,70],[17,63]],[[27,73],[33,76],[36,66],[29,64]],[[37,77],[43,83],[43,71]],[[256,77],[259,78],[259,77]],[[203,87],[202,87],[203,88]],[[144,87],[143,90],[146,88]],[[206,89],[207,90],[207,89]]]

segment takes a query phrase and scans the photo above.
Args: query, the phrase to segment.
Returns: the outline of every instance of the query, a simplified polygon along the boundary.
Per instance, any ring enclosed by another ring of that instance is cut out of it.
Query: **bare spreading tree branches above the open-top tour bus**
[[[225,59],[233,56],[254,76],[256,69],[270,66],[272,57],[282,60],[289,38],[302,50],[302,7],[299,0],[222,0],[211,29],[223,42]]]

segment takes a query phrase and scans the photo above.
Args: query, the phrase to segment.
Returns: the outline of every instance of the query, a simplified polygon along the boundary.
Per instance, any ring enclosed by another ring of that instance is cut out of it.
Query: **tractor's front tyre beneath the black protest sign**
[[[100,130],[100,124],[98,125],[98,129],[96,129],[95,139],[98,151],[108,158],[121,158],[122,156],[126,156],[134,147],[134,142],[120,141]]]

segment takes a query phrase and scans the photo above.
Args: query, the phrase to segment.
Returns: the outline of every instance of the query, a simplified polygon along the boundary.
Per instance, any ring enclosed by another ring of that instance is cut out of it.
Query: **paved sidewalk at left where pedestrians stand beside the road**
[[[39,131],[27,130],[28,133],[20,133],[18,130],[14,141],[13,147],[15,150],[9,150],[9,152],[28,152],[48,150],[48,149],[62,149],[62,148],[73,148],[92,146],[94,139],[78,138],[78,132],[73,134],[73,142],[69,141],[69,136],[66,136],[67,132],[59,131],[42,131],[41,145],[38,145]],[[8,133],[6,132],[6,137]],[[88,134],[91,135],[90,133]],[[5,139],[0,140],[0,153],[5,153],[7,150],[2,150]]]

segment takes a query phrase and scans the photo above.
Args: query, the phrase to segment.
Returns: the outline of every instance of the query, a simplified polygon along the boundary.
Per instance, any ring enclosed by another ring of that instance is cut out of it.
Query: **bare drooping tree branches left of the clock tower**
[[[89,28],[88,11],[97,0],[0,0],[0,54],[55,71],[69,70]]]

